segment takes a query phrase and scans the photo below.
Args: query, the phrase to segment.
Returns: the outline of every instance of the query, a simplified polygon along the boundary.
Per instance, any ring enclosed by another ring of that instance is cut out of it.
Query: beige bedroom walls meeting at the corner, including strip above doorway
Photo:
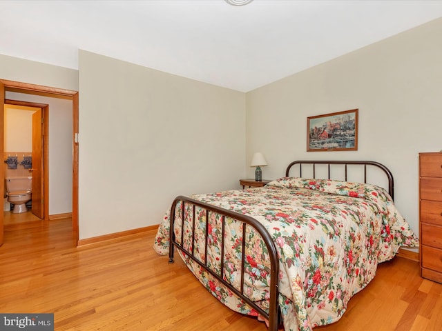
[[[256,151],[265,179],[294,159],[385,163],[417,231],[417,155],[442,148],[441,31],[432,21],[247,94],[85,51],[79,71],[0,54],[0,78],[80,91],[81,239],[157,224],[177,194],[239,188]],[[306,152],[307,117],[354,108],[358,151]]]

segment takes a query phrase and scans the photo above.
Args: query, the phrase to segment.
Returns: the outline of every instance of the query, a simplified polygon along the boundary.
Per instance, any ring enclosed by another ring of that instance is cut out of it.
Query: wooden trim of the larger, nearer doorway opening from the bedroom
[[[51,88],[49,86],[40,86],[29,83],[21,83],[19,81],[8,81],[6,79],[0,79],[0,83],[4,86],[5,92],[19,92],[26,94],[37,94],[44,95],[46,97],[55,97],[68,99],[73,101],[73,187],[72,187],[72,230],[75,236],[76,245],[78,245],[79,239],[79,228],[78,228],[78,153],[79,153],[79,143],[78,143],[78,91],[66,90],[61,88]],[[3,99],[5,95],[3,94]],[[4,174],[1,175],[4,177]],[[4,181],[4,178],[0,178]],[[46,194],[46,192],[45,192]],[[46,205],[46,204],[45,204]],[[2,213],[0,213],[2,214]],[[3,223],[3,215],[1,217],[1,222]],[[1,229],[3,231],[3,229]]]

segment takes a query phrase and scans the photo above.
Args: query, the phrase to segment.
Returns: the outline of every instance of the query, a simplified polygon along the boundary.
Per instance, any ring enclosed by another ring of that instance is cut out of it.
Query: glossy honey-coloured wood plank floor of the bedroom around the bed
[[[0,312],[53,312],[55,330],[267,330],[214,299],[181,259],[152,248],[155,232],[75,248],[70,219],[8,225],[0,247]],[[442,284],[396,257],[315,330],[442,330]]]

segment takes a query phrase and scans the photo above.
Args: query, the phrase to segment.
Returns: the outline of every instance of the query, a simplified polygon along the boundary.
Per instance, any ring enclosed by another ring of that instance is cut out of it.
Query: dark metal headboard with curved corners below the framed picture
[[[287,166],[287,170],[285,171],[285,176],[289,177],[289,172],[292,166],[294,165],[299,165],[299,173],[300,173],[300,177],[302,177],[302,165],[303,164],[307,164],[307,165],[311,165],[313,167],[313,178],[316,178],[316,164],[326,164],[328,167],[328,177],[327,179],[331,179],[330,178],[330,165],[332,164],[341,164],[343,165],[343,167],[345,167],[345,181],[347,181],[347,165],[352,165],[352,164],[356,164],[356,165],[363,165],[363,169],[364,169],[364,183],[367,183],[367,165],[373,165],[377,168],[380,168],[381,170],[383,170],[383,172],[385,173],[385,176],[388,179],[388,193],[390,194],[390,197],[392,197],[392,199],[394,199],[394,179],[393,179],[393,174],[390,171],[390,169],[388,169],[385,165],[383,165],[382,163],[376,162],[376,161],[293,161],[291,162],[288,166]]]

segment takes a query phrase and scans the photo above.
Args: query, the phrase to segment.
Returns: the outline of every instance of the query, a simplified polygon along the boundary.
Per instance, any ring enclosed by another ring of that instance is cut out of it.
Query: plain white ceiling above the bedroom
[[[442,0],[0,0],[0,13],[0,54],[77,69],[82,49],[248,92],[442,17]]]

